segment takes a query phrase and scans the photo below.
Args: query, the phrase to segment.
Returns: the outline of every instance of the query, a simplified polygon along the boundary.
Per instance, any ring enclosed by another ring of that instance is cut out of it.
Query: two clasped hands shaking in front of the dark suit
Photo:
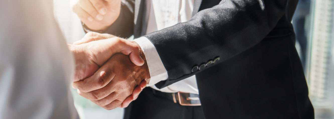
[[[136,42],[89,32],[68,48],[75,58],[72,87],[107,110],[127,107],[149,82],[145,55]]]

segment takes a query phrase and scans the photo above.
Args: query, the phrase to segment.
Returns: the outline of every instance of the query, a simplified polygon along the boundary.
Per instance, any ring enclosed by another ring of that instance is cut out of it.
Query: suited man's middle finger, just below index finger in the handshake
[[[103,87],[101,89],[93,90],[91,92],[86,92],[85,93],[85,92],[82,92],[82,91],[78,90],[78,94],[80,96],[84,97],[84,98],[89,99],[89,100],[102,100],[104,98],[111,99],[110,95],[112,95],[115,90],[116,90],[116,86],[113,85],[112,83],[109,83],[105,87]],[[113,101],[113,100],[111,100],[111,101]]]

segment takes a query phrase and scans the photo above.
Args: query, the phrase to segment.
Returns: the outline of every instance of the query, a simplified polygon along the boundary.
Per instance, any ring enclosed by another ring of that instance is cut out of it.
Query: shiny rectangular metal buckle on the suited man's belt
[[[177,92],[177,93],[173,93],[173,100],[174,100],[174,103],[177,103],[178,101],[180,105],[183,105],[183,106],[200,106],[201,105],[199,96],[197,94]]]

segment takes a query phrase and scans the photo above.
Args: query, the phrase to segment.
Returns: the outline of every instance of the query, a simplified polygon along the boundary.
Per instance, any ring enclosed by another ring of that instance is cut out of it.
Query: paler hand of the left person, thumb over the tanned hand
[[[144,64],[138,44],[109,34],[89,32],[81,40],[68,44],[68,47],[75,58],[74,81],[93,75],[112,55],[119,52],[129,55],[135,65]]]

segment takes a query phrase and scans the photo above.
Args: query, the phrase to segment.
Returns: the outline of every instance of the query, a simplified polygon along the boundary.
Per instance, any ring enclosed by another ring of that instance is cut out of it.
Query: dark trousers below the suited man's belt
[[[125,108],[124,119],[205,119],[201,106],[182,106],[157,96],[150,87]]]

